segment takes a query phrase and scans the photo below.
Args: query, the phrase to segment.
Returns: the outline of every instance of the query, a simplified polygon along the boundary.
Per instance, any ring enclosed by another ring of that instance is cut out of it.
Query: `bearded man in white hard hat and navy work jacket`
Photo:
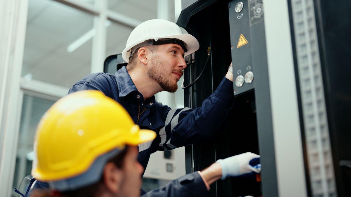
[[[199,49],[199,42],[182,33],[173,22],[153,19],[130,34],[122,52],[126,67],[114,75],[93,73],[75,83],[69,93],[94,89],[119,102],[141,129],[153,130],[153,141],[138,145],[138,161],[146,169],[150,155],[205,142],[214,136],[232,106],[233,74],[226,74],[216,91],[196,109],[171,109],[155,100],[161,91],[174,93],[186,68],[184,56]]]

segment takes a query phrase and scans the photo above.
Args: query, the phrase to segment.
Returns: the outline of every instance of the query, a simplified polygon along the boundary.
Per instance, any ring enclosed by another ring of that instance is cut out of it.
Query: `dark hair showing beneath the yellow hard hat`
[[[107,163],[113,162],[117,168],[123,168],[124,157],[126,156],[128,146],[122,150],[118,155],[108,160]],[[101,178],[97,183],[90,184],[83,188],[79,188],[72,191],[58,192],[50,189],[36,189],[31,192],[30,197],[85,197],[94,196],[97,194],[101,184],[104,184],[104,177],[101,174]]]

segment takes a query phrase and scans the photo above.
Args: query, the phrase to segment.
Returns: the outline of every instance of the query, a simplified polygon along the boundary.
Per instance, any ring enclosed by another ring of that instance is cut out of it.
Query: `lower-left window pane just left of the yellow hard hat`
[[[13,189],[19,186],[25,176],[31,174],[34,157],[33,142],[35,130],[37,129],[42,115],[44,115],[45,111],[47,111],[52,104],[54,104],[53,101],[27,95],[23,97]],[[17,195],[18,194],[15,195],[13,191],[13,196]]]

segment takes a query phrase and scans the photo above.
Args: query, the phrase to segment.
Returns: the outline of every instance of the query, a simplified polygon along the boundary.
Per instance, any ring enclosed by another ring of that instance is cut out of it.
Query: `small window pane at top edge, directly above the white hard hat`
[[[157,18],[157,0],[109,0],[108,9],[141,22]]]

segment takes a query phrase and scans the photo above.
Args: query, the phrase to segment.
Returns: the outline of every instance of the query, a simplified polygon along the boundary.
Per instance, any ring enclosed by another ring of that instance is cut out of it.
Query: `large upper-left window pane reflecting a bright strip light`
[[[90,73],[93,16],[57,1],[29,0],[22,76],[71,87]]]

